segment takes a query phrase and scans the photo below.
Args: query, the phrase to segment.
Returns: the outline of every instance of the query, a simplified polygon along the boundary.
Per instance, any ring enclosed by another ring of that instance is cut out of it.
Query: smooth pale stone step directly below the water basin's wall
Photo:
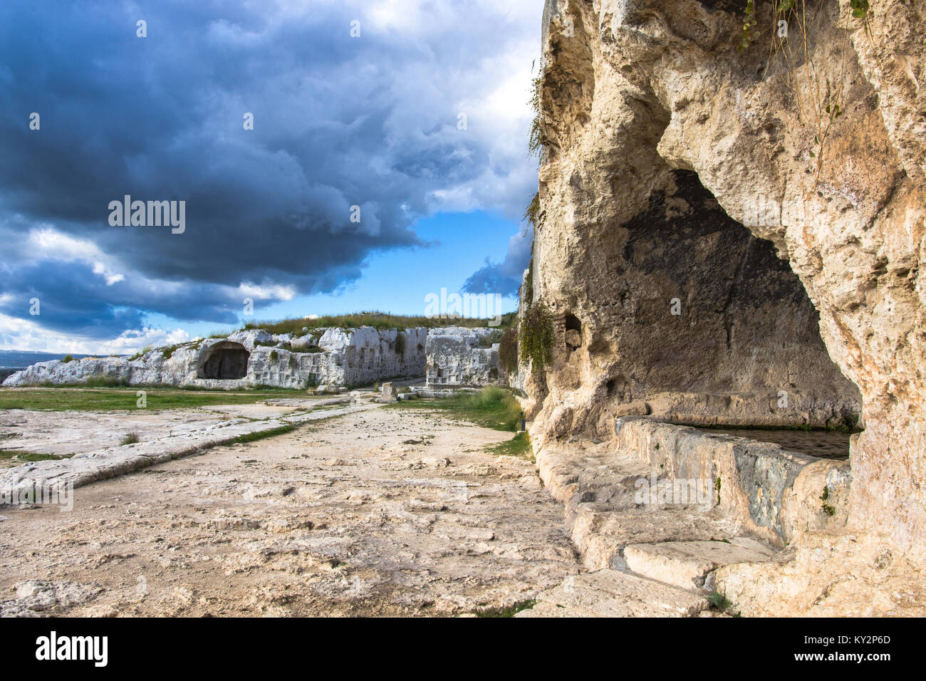
[[[707,575],[723,565],[769,562],[775,553],[757,539],[736,536],[726,541],[631,544],[624,547],[623,556],[633,573],[684,589],[702,589]]]

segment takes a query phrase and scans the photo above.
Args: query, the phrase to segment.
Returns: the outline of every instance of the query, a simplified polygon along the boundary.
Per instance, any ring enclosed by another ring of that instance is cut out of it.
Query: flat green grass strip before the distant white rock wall
[[[113,411],[135,410],[136,391],[147,394],[147,410],[189,409],[213,405],[254,404],[273,397],[308,397],[303,390],[283,388],[226,392],[180,388],[6,388],[0,390],[0,410]]]

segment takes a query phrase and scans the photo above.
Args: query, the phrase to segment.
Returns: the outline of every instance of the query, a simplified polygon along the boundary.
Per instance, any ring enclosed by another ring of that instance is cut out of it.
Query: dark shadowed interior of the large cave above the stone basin
[[[860,393],[830,358],[804,284],[694,171],[673,170],[646,208],[615,227],[603,284],[614,310],[607,358],[590,348],[593,362],[607,359],[603,393],[615,408],[633,396],[666,422],[856,430]],[[568,350],[576,326],[568,313]]]

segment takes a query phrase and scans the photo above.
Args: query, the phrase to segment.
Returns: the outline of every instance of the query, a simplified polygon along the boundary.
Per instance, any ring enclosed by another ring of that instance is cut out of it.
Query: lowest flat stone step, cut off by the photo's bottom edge
[[[567,577],[516,617],[693,617],[704,596],[617,570]]]

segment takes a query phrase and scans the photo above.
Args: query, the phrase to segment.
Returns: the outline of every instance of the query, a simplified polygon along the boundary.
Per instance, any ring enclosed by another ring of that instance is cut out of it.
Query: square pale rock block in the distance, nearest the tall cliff
[[[433,329],[425,347],[428,387],[497,383],[500,334],[495,329],[461,326]]]

